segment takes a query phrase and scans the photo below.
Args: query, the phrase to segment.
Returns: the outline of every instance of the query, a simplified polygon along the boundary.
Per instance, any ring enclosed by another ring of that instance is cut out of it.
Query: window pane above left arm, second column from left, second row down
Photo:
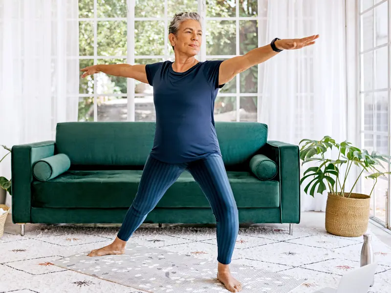
[[[98,55],[126,56],[126,21],[98,21]]]

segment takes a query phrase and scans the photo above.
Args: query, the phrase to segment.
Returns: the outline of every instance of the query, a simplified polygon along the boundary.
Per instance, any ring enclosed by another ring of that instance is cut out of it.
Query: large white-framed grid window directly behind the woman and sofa
[[[199,61],[242,55],[266,43],[266,10],[267,0],[79,0],[80,68],[174,60],[168,27],[179,11],[203,17],[206,33]],[[219,90],[216,121],[258,121],[261,66],[238,74]],[[154,120],[149,84],[103,73],[80,80],[79,121]]]

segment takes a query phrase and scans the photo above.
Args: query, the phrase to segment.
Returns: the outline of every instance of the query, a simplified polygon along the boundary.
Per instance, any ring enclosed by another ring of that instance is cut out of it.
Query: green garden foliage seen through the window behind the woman
[[[134,23],[134,48],[127,47],[127,23],[126,21],[100,21],[99,18],[127,17],[126,0],[98,0],[97,1],[97,54],[99,56],[126,56],[127,50],[133,50],[136,62],[138,55],[162,55],[165,53],[174,55],[171,45],[168,43],[164,48],[164,33],[168,30],[171,18],[175,13],[182,11],[197,11],[197,0],[168,0],[167,11],[169,20],[167,27],[164,21],[135,21]],[[235,17],[235,0],[207,0],[207,17]],[[240,17],[256,17],[258,15],[257,0],[239,0]],[[79,0],[79,17],[91,19],[90,21],[79,22],[79,54],[80,56],[93,56],[93,0]],[[161,0],[136,0],[134,14],[136,18],[164,17],[164,1]],[[236,21],[207,21],[206,31],[204,30],[203,42],[206,42],[207,55],[242,55],[258,47],[258,21],[239,21],[239,52],[236,51]],[[210,59],[208,59],[210,60]],[[221,60],[221,59],[220,59]],[[147,60],[143,63],[154,63],[162,60]],[[98,60],[97,63],[115,64],[127,63],[126,59]],[[93,59],[81,59],[80,68],[94,64]],[[102,73],[100,73],[102,74]],[[236,94],[237,86],[235,77],[231,82],[224,85],[221,93]],[[240,93],[258,92],[258,67],[253,66],[240,73]],[[108,75],[105,88],[110,93],[127,93],[126,78]],[[136,82],[137,84],[138,82]],[[97,88],[101,88],[99,84]],[[94,91],[94,78],[88,76],[80,79],[79,93],[91,94]],[[98,92],[98,94],[103,94]],[[121,97],[115,97],[121,98]],[[86,117],[91,113],[92,98],[81,98],[79,102],[79,119],[90,120]],[[219,108],[221,102],[224,108]],[[242,97],[240,107],[248,111],[257,111],[256,97]],[[232,97],[221,97],[216,101],[216,112],[226,112],[227,109],[236,109],[236,99]]]

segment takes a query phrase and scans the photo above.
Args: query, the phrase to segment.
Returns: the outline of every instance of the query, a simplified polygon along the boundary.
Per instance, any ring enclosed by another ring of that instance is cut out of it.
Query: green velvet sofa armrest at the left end
[[[44,141],[11,148],[12,222],[30,223],[32,166],[54,155],[54,141]]]

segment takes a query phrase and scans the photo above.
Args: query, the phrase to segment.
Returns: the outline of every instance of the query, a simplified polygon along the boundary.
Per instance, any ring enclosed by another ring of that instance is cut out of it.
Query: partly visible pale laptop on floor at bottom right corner
[[[342,276],[337,289],[325,288],[314,293],[368,293],[376,267],[377,262],[347,272]]]

